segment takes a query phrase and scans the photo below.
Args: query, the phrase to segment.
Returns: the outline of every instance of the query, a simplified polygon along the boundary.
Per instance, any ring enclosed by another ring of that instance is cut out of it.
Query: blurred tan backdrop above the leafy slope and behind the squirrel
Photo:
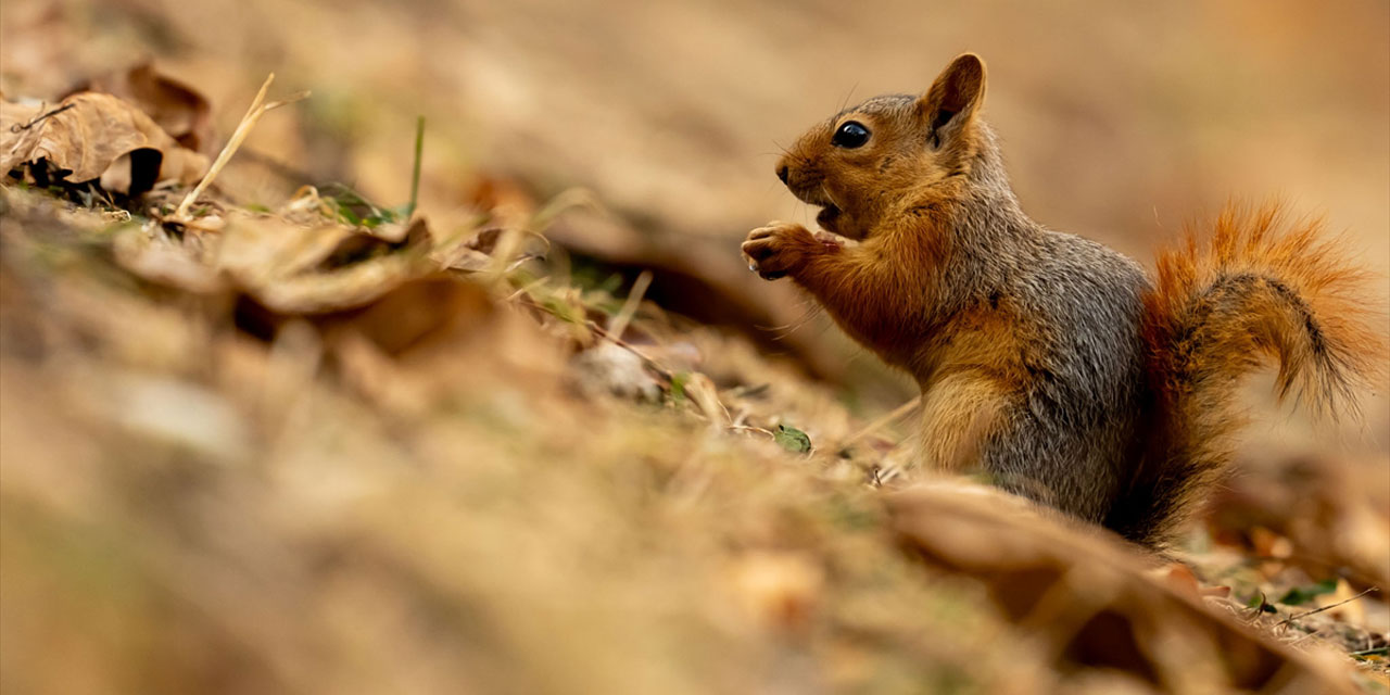
[[[592,189],[639,235],[569,228],[562,245],[670,271],[652,296],[698,318],[770,327],[796,322],[798,297],[753,281],[733,249],[770,218],[809,218],[771,175],[777,143],[847,101],[923,90],[972,50],[1042,224],[1147,260],[1229,199],[1279,196],[1347,231],[1390,295],[1390,18],[1376,0],[31,0],[6,7],[4,32],[7,95],[157,58],[228,132],[267,72],[313,90],[253,133],[264,171],[234,189],[247,202],[304,181],[404,200],[424,115],[425,211],[467,206],[499,177],[541,197]],[[684,296],[709,282],[712,300]],[[821,332],[787,346],[815,353]],[[830,356],[813,363],[842,377]]]

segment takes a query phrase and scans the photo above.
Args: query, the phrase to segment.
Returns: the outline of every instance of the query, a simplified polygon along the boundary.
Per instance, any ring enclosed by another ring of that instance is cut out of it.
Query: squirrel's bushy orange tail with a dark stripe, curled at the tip
[[[1226,208],[1208,234],[1158,256],[1145,297],[1155,399],[1152,439],[1105,525],[1156,546],[1218,482],[1244,424],[1241,377],[1279,360],[1279,396],[1318,414],[1355,413],[1380,371],[1366,272],[1318,221],[1284,222],[1277,204]]]

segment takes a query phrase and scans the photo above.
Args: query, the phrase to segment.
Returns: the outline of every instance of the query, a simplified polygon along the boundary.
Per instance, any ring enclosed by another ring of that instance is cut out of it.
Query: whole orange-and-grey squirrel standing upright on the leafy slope
[[[1169,545],[1233,456],[1241,377],[1277,359],[1280,398],[1330,414],[1382,371],[1364,272],[1286,222],[1229,206],[1151,277],[1030,220],[981,120],[984,63],[878,96],[802,135],[777,177],[823,231],[771,222],[742,253],[790,277],[922,389],[924,466],[1150,548]]]

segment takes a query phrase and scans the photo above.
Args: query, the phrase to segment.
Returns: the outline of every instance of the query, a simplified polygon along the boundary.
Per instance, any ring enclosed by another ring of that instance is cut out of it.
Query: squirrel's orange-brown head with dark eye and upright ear
[[[777,178],[821,206],[823,228],[862,239],[881,215],[969,175],[983,101],[984,61],[962,54],[922,96],[873,97],[812,128],[777,163]]]

